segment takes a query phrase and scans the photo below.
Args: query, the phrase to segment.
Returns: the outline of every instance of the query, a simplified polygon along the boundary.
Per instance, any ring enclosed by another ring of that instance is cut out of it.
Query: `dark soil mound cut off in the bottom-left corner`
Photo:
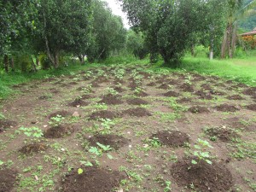
[[[10,192],[15,186],[18,172],[12,169],[0,170],[0,192]]]

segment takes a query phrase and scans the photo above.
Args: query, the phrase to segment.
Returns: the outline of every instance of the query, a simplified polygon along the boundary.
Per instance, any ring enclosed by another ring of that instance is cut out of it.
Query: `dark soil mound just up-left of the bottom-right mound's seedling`
[[[184,143],[189,143],[188,134],[180,131],[159,131],[150,137],[153,138],[158,138],[161,144],[172,147],[181,147]]]

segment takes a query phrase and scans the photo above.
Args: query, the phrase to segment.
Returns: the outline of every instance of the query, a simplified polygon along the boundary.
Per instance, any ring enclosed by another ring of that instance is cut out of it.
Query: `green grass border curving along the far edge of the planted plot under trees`
[[[247,61],[247,60],[245,60]],[[180,67],[173,69],[169,67],[164,67],[162,65],[163,61],[158,61],[154,65],[150,65],[150,69],[158,71],[161,69],[166,69],[169,71],[181,71],[181,72],[196,72],[207,75],[216,75],[224,79],[232,79],[237,82],[248,84],[251,86],[256,86],[256,66],[242,66],[236,65],[232,60],[213,60],[209,61],[207,58],[194,58],[186,56]],[[50,69],[50,70],[39,70],[38,73],[0,73],[0,99],[5,99],[12,94],[17,92],[11,88],[15,84],[23,84],[37,79],[45,79],[47,77],[58,77],[61,75],[67,75],[70,73],[76,73],[80,70],[84,70],[88,67],[99,67],[102,65],[148,65],[148,59],[137,60],[132,56],[127,57],[111,57],[104,63],[92,63],[86,64],[84,66],[78,63],[70,65],[68,67],[61,67],[60,69]]]

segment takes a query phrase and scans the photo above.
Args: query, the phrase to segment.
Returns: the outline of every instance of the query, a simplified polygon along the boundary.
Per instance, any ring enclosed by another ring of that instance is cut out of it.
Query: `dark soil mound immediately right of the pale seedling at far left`
[[[66,137],[73,133],[74,128],[69,125],[58,125],[50,127],[47,131],[44,131],[45,138],[61,138]]]

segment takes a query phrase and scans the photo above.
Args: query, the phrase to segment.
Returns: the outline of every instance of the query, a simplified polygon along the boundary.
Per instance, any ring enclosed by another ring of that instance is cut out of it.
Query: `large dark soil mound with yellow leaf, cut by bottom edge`
[[[61,192],[110,192],[119,187],[119,182],[125,179],[125,175],[103,168],[83,167],[84,172],[78,174],[74,169],[61,180]]]

